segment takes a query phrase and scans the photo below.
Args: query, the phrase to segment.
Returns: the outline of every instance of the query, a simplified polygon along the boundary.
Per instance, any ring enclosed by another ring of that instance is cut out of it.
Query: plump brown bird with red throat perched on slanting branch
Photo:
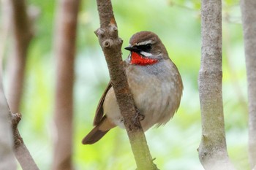
[[[130,52],[124,60],[124,70],[135,107],[143,115],[140,120],[143,131],[154,125],[165,125],[181,102],[181,74],[159,36],[151,31],[135,33],[129,39],[129,46],[124,49]],[[99,100],[94,128],[82,143],[94,144],[116,126],[124,128],[124,118],[110,82]]]

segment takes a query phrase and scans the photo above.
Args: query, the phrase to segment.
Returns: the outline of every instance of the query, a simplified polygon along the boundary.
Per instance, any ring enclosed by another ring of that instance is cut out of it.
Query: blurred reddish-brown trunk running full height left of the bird
[[[53,169],[72,169],[72,117],[75,38],[79,0],[59,0],[56,32],[56,96]]]

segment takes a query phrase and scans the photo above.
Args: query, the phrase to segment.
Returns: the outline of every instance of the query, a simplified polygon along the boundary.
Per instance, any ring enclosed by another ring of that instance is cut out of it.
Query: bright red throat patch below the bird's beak
[[[158,62],[157,59],[146,58],[146,57],[143,57],[142,55],[139,55],[138,53],[135,53],[135,52],[131,53],[131,63],[132,64],[146,66],[146,65],[151,65],[151,64],[157,63],[157,62]]]

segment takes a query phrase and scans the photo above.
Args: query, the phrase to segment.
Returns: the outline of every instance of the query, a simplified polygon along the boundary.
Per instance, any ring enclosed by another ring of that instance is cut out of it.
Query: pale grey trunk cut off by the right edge
[[[256,165],[256,1],[241,0],[249,101],[249,161]]]

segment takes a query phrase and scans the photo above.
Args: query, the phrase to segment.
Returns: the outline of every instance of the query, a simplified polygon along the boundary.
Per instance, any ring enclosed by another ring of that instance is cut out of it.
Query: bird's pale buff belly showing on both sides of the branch
[[[180,87],[172,74],[163,72],[159,78],[157,74],[145,75],[143,72],[140,69],[129,70],[127,79],[135,106],[140,114],[145,115],[140,123],[146,131],[153,125],[167,123],[173,117],[178,109],[182,92],[179,92]],[[124,119],[118,108],[113,88],[108,91],[105,101],[108,101],[103,105],[105,114],[114,124],[124,128]]]

